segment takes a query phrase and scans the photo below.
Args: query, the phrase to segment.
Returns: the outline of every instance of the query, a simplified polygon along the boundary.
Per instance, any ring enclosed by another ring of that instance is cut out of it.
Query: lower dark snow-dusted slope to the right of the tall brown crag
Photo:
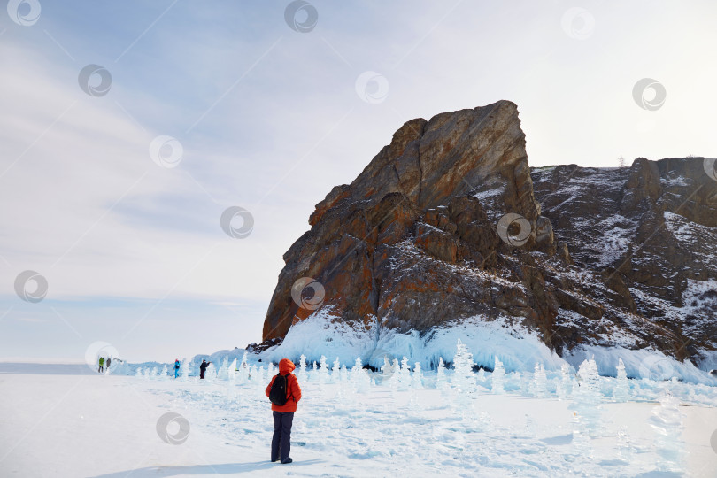
[[[542,212],[574,262],[559,275],[577,284],[568,293],[589,297],[606,325],[596,330],[589,314],[561,312],[559,327],[594,332],[583,348],[654,347],[680,365],[717,368],[717,181],[704,164],[640,158],[622,170],[533,171]]]

